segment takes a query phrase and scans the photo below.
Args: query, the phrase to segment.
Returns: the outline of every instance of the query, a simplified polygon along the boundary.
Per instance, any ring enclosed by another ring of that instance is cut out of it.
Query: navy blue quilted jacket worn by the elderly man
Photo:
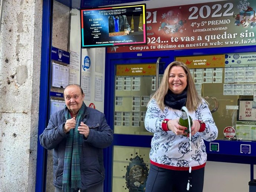
[[[83,136],[80,158],[81,189],[87,189],[104,181],[103,149],[111,145],[113,132],[104,113],[90,107],[86,107],[82,122],[90,128],[88,138]],[[39,136],[44,148],[53,149],[53,185],[59,188],[62,188],[65,146],[69,134],[63,131],[65,123],[63,109],[50,116],[47,128]]]

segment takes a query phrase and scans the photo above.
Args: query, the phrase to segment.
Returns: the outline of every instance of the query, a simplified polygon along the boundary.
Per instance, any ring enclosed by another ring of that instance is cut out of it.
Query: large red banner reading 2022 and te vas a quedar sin
[[[108,53],[255,45],[256,1],[228,0],[147,9],[147,45]]]

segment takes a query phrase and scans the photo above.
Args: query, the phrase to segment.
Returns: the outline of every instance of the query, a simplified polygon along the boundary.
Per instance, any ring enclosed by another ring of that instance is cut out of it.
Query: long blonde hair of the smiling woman
[[[202,102],[202,97],[200,97],[196,91],[196,86],[194,84],[193,78],[190,74],[190,70],[187,65],[183,62],[174,61],[171,62],[165,69],[163,79],[157,91],[151,96],[151,99],[155,99],[161,110],[164,110],[164,97],[169,89],[169,73],[173,66],[183,67],[187,75],[187,102],[186,107],[188,111],[196,110],[198,105]]]

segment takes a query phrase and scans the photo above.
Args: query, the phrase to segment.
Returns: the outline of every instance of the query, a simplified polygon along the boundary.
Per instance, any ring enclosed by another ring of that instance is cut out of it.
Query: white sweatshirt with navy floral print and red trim
[[[162,129],[162,121],[179,118],[181,110],[165,106],[162,111],[154,99],[150,101],[144,123],[145,128],[154,133],[150,150],[152,164],[173,170],[189,170],[190,167],[195,170],[205,166],[207,154],[203,139],[213,141],[218,136],[218,129],[204,100],[196,111],[189,112],[189,115],[193,120],[203,120],[206,123],[205,130],[192,136],[191,142],[189,137]]]

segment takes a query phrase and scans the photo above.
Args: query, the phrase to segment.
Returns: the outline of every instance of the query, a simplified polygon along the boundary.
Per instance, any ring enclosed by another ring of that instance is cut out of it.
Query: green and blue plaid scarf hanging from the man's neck
[[[85,107],[85,103],[83,103],[81,109],[78,112],[78,115],[76,116],[76,127],[75,129],[71,129],[69,131],[66,141],[62,178],[63,192],[69,192],[70,188],[81,188],[80,156],[82,151],[82,135],[78,132],[78,126],[80,126],[82,121]],[[66,120],[72,118],[67,106],[65,106],[64,113]]]

